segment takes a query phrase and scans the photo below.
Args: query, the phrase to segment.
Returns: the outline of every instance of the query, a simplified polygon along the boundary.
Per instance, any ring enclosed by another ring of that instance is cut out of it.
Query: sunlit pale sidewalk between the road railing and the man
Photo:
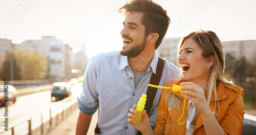
[[[76,132],[76,122],[79,115],[79,109],[78,107],[72,111],[72,113],[65,118],[65,120],[59,122],[59,124],[54,127],[48,135],[56,135],[56,134],[62,134],[62,135],[74,135]],[[89,127],[87,134],[93,134],[94,132],[94,126],[95,122],[97,120],[98,111],[93,115],[91,125]]]

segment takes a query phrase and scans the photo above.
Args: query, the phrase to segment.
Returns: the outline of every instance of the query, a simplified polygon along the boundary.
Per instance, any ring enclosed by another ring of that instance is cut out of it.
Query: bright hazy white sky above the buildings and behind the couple
[[[122,48],[125,0],[0,0],[0,38],[21,43],[56,36],[86,44],[87,56]],[[165,38],[211,30],[222,41],[256,39],[254,0],[154,0],[170,17]],[[78,39],[78,40],[77,40]]]

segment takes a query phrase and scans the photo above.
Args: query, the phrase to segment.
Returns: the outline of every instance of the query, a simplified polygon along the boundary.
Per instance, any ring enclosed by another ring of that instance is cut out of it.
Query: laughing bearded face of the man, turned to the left
[[[123,38],[123,48],[120,54],[134,58],[138,56],[146,46],[145,26],[141,23],[142,13],[129,12],[123,21],[123,29],[120,32]]]

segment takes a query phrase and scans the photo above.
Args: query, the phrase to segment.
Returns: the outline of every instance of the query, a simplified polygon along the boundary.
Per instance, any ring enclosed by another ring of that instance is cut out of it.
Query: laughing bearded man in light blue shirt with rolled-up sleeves
[[[123,48],[120,52],[94,56],[83,80],[83,93],[78,99],[80,114],[76,134],[86,134],[92,115],[98,109],[100,134],[136,134],[127,119],[129,109],[146,94],[151,75],[156,73],[155,53],[169,26],[166,10],[150,0],[133,0],[119,9],[124,12]],[[164,59],[159,85],[173,80],[179,69]],[[158,89],[150,111],[155,127],[161,89]]]

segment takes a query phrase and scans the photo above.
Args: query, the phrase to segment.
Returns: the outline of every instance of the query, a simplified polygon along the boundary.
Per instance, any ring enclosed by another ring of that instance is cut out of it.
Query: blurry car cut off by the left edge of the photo
[[[17,97],[18,94],[13,85],[0,85],[0,106],[3,106],[5,103],[15,103]]]

